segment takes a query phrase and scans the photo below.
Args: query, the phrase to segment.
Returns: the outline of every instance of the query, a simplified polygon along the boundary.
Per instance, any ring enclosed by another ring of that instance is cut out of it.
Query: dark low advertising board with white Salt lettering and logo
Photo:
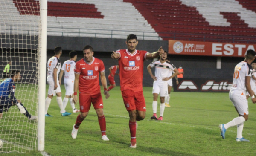
[[[233,79],[221,78],[179,78],[176,84],[172,79],[173,90],[175,92],[229,92]]]

